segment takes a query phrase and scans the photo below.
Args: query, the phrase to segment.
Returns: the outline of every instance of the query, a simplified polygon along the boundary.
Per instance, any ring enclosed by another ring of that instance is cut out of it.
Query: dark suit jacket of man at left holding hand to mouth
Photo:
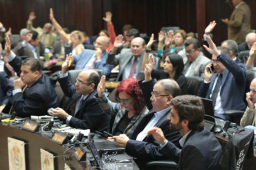
[[[21,70],[21,58],[15,57],[10,62],[15,72],[19,75]],[[44,73],[33,83],[24,93],[17,93],[12,96],[12,110],[17,112],[17,116],[28,117],[31,115],[46,115],[51,107],[57,107],[57,94],[50,78]]]

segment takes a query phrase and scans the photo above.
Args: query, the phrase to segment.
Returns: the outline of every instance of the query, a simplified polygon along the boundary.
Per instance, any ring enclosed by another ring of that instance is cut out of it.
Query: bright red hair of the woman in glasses
[[[125,81],[121,81],[118,87],[116,87],[116,98],[120,92],[125,92],[134,98],[135,114],[140,114],[140,111],[143,110],[146,104],[143,98],[143,92],[138,85],[138,79],[127,78]]]

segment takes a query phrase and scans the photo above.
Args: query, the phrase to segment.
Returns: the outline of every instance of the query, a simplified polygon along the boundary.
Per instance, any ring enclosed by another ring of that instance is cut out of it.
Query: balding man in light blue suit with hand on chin
[[[99,36],[95,41],[95,50],[84,49],[77,56],[73,56],[73,63],[75,63],[75,70],[79,69],[101,69],[103,75],[108,75],[113,68],[113,65],[107,63],[106,52],[109,46],[109,39],[107,36]],[[65,54],[71,52],[72,47],[65,48]]]

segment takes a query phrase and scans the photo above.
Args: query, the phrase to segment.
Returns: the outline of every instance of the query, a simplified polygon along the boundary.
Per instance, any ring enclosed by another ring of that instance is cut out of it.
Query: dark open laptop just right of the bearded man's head
[[[203,105],[205,109],[205,116],[204,116],[205,129],[208,129],[209,131],[211,131],[215,125],[212,100],[208,98],[201,98],[201,100],[203,101]]]

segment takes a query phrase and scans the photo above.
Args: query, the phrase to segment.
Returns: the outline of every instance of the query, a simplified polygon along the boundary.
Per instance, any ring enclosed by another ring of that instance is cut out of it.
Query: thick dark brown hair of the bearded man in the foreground
[[[183,95],[172,98],[172,107],[177,110],[179,120],[188,120],[188,128],[199,130],[204,127],[204,106],[200,97]]]

